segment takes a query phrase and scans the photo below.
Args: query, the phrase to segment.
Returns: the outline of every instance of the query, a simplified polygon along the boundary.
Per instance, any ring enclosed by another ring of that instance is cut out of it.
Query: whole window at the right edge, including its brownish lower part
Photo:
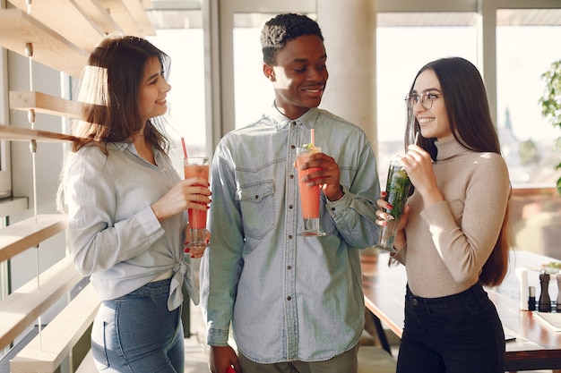
[[[561,259],[561,197],[555,189],[561,129],[541,115],[541,74],[561,60],[561,10],[497,12],[497,117],[501,146],[513,182],[514,247]],[[553,17],[553,18],[552,18]]]

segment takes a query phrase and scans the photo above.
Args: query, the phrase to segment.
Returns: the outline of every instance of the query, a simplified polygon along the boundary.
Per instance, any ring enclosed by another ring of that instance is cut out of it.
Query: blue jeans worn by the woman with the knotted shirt
[[[99,371],[183,373],[181,307],[168,311],[169,282],[145,284],[101,303],[91,330],[91,352]]]

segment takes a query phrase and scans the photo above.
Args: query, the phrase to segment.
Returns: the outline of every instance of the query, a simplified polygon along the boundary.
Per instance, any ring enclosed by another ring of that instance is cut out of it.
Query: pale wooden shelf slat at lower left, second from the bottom
[[[39,275],[40,287],[33,279],[0,301],[0,349],[12,343],[81,279],[68,256]]]

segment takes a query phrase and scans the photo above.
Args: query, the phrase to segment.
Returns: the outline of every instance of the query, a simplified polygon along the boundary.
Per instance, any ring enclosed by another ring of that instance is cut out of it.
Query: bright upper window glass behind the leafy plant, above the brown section
[[[540,76],[561,60],[550,40],[561,40],[561,26],[496,28],[497,123],[514,187],[553,187],[560,175],[554,145],[561,131],[539,106],[545,88]]]

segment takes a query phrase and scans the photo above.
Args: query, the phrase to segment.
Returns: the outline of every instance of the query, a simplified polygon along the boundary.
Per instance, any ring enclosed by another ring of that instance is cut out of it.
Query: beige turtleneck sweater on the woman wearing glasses
[[[433,164],[444,201],[425,208],[418,192],[408,203],[405,264],[411,292],[436,298],[476,284],[495,247],[510,195],[508,170],[496,153],[470,151],[453,138],[436,141]]]

